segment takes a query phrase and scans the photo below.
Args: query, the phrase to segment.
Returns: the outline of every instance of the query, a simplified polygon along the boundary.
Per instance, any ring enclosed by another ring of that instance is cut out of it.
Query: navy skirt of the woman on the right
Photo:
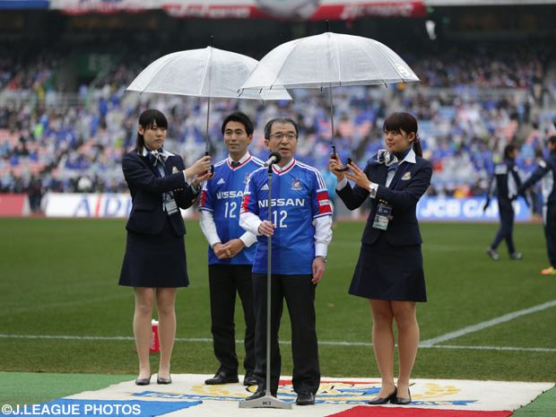
[[[361,245],[350,294],[371,300],[427,301],[421,245],[393,246],[385,233]]]

